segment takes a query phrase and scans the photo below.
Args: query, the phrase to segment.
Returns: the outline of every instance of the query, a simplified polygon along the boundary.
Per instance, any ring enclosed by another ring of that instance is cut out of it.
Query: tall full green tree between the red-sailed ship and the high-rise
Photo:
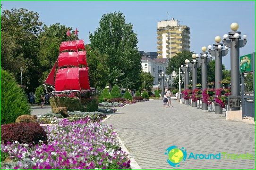
[[[137,49],[137,34],[132,28],[121,12],[114,12],[103,15],[97,30],[89,32],[91,47],[109,57],[104,66],[109,68],[110,88],[116,79],[139,83],[134,77],[139,77],[141,71],[141,55]]]

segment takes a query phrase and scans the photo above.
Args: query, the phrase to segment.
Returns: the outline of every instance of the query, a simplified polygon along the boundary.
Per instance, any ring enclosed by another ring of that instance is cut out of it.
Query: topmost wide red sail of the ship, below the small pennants
[[[61,42],[60,52],[68,49],[75,50],[75,51],[77,51],[78,49],[85,49],[84,40],[72,40],[72,41]]]

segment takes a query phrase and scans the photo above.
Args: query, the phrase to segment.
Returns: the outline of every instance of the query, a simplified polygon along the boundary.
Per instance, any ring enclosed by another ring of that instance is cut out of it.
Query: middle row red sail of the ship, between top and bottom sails
[[[79,65],[87,66],[86,51],[60,53],[58,58],[58,66],[62,67],[67,65],[73,65],[77,67]]]

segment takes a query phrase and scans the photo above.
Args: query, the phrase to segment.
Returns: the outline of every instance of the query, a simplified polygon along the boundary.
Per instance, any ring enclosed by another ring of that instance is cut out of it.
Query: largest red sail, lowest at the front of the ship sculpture
[[[58,70],[55,79],[55,89],[63,90],[81,90],[79,84],[79,68],[61,68]]]

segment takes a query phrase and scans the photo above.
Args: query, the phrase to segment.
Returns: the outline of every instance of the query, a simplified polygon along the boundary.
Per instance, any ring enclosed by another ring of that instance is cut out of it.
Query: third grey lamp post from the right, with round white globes
[[[202,72],[202,92],[207,88],[207,52],[206,51],[206,47],[202,47],[202,51],[201,54],[201,59],[202,59],[202,63],[201,63],[201,72]],[[208,110],[208,103],[204,103],[202,102],[202,110]]]

